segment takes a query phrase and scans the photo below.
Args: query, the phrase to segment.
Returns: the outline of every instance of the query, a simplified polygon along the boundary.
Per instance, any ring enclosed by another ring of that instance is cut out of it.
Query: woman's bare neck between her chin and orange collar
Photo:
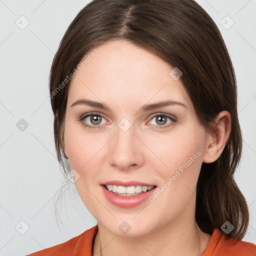
[[[210,237],[210,234],[202,232],[198,227],[193,211],[183,211],[183,215],[180,215],[175,221],[156,227],[153,231],[141,236],[116,235],[98,223],[93,255],[200,256]]]

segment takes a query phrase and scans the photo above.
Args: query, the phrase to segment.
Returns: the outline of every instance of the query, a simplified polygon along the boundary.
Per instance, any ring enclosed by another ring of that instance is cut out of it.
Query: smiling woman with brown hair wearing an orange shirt
[[[48,97],[58,160],[97,225],[31,256],[255,255],[233,179],[235,74],[195,1],[93,0],[61,40]]]

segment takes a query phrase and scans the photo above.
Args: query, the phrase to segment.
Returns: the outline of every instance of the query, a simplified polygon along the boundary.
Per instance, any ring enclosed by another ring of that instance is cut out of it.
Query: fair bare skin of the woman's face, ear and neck
[[[108,41],[97,49],[71,80],[62,141],[71,169],[80,175],[74,183],[77,192],[98,222],[93,255],[100,254],[100,241],[104,256],[201,255],[211,235],[202,232],[194,218],[196,182],[202,162],[213,162],[224,149],[231,128],[229,112],[221,111],[208,133],[181,80],[169,75],[172,66],[125,40]],[[71,106],[82,98],[103,102],[111,110]],[[186,107],[176,104],[139,111],[144,104],[163,100]],[[78,121],[90,112],[103,115],[99,124],[91,122],[90,116]],[[157,122],[161,113],[175,116],[176,122],[169,118]],[[131,124],[127,131],[118,127],[123,118]],[[99,128],[84,127],[86,122]],[[102,193],[100,184],[113,179],[144,181],[160,188],[197,151],[200,156],[154,202],[121,208]],[[118,228],[124,220],[131,227],[126,234]]]

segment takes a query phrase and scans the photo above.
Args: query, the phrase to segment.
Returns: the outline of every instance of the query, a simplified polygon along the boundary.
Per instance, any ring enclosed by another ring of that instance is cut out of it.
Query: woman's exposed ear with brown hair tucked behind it
[[[231,131],[231,115],[228,111],[221,111],[214,119],[215,127],[211,133],[207,133],[207,141],[209,141],[203,153],[202,161],[206,163],[214,162],[218,159]]]

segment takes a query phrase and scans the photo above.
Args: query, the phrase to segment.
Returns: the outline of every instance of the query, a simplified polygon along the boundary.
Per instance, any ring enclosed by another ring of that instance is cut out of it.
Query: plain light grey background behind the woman
[[[56,224],[54,202],[63,178],[46,98],[49,69],[60,39],[88,2],[0,0],[0,256],[28,254],[96,224],[72,192],[66,193],[66,204],[59,208],[63,224]],[[236,73],[244,147],[235,179],[250,211],[243,240],[256,243],[256,1],[198,3],[219,27]],[[28,123],[23,131],[16,126],[21,118]]]

